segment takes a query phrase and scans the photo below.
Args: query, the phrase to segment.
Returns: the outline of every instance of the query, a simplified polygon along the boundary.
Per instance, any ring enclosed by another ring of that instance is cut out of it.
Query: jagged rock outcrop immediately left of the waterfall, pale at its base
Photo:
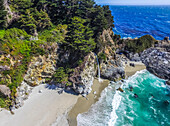
[[[84,58],[84,62],[75,68],[69,81],[73,83],[73,89],[78,94],[89,94],[96,75],[97,65],[94,53]]]

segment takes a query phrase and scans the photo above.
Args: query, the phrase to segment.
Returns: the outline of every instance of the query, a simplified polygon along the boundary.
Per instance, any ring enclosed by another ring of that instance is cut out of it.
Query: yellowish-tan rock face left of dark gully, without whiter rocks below
[[[24,81],[30,86],[44,83],[46,78],[51,78],[54,74],[57,58],[56,54],[49,54],[48,57],[34,57],[29,65]]]

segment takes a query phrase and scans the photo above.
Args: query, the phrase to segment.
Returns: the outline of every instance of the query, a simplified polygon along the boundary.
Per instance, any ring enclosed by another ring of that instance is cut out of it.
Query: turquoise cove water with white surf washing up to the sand
[[[78,126],[170,126],[170,105],[164,102],[170,101],[170,88],[164,80],[143,70],[125,80],[122,89],[108,86],[88,112],[78,115]]]

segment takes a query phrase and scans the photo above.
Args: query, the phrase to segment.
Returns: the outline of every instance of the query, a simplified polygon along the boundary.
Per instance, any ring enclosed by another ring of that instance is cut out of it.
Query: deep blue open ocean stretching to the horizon
[[[136,38],[146,34],[157,40],[170,36],[170,6],[110,6],[115,34]]]

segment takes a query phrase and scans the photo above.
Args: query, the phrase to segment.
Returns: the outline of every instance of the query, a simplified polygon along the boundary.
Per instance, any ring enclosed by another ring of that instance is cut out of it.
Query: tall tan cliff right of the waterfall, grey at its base
[[[116,81],[122,79],[125,76],[123,64],[121,58],[116,55],[116,45],[112,39],[114,36],[111,30],[104,30],[101,36],[104,48],[99,52],[101,77]],[[103,56],[101,56],[103,55]]]

